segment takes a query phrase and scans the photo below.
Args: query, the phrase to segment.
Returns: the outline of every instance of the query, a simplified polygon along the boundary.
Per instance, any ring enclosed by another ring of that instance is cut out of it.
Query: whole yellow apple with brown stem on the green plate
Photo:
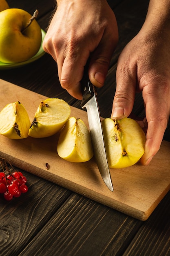
[[[31,14],[22,9],[6,9],[0,12],[0,61],[18,63],[27,61],[40,49],[42,33],[36,20],[29,23]]]

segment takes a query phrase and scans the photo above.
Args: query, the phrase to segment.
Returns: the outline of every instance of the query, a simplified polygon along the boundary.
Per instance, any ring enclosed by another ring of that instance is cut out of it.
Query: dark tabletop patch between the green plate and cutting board
[[[0,70],[0,78],[47,97],[60,97],[70,105],[75,101],[66,90],[62,89],[57,76],[56,63],[49,54],[20,68]]]

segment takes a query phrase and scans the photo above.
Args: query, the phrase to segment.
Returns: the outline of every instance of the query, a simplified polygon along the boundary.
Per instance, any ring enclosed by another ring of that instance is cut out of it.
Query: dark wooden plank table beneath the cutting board
[[[38,9],[38,22],[44,30],[55,6],[54,0],[7,2],[10,7],[30,13]],[[148,0],[108,2],[117,17],[119,44],[106,84],[98,93],[102,117],[110,117],[117,58],[141,28],[148,8]],[[57,65],[48,54],[17,69],[0,70],[0,79],[81,108],[80,102],[61,88]],[[136,95],[133,113],[144,116],[141,94]],[[170,141],[170,124],[164,139]],[[170,255],[170,192],[148,220],[142,222],[31,173],[23,173],[29,191],[11,202],[0,198],[0,255]]]

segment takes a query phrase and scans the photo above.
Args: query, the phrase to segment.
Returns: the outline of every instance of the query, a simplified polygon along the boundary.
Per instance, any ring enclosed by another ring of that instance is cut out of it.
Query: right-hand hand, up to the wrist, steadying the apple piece
[[[146,120],[145,153],[149,164],[160,148],[170,116],[170,36],[144,25],[119,56],[112,119],[128,117],[135,92],[142,91]]]

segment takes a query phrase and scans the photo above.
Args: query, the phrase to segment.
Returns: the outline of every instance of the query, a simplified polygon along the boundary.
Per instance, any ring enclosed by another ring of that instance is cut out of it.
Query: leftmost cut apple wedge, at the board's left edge
[[[5,137],[27,138],[30,125],[28,113],[19,101],[9,103],[0,112],[0,134]]]

